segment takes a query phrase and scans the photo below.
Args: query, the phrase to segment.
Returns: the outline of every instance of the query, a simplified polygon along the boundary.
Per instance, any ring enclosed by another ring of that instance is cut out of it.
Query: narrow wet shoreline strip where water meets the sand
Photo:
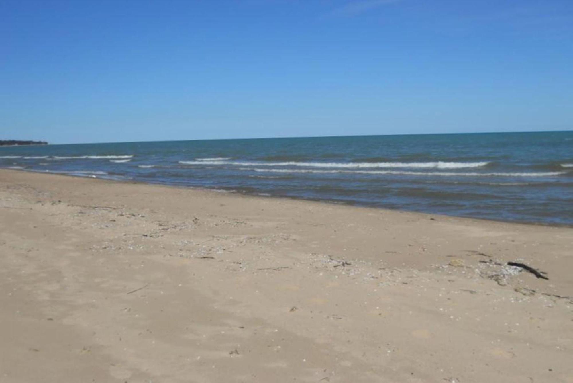
[[[355,202],[344,202],[344,201],[337,201],[337,200],[326,200],[320,198],[303,198],[303,197],[290,197],[290,196],[276,196],[272,194],[262,195],[260,193],[249,193],[243,192],[242,190],[237,189],[224,189],[224,188],[209,188],[209,187],[200,187],[200,186],[182,186],[182,185],[172,185],[170,183],[161,183],[161,182],[144,182],[144,181],[135,181],[132,179],[111,179],[111,178],[102,178],[102,177],[87,177],[81,175],[72,175],[72,174],[65,174],[65,173],[54,173],[49,171],[39,171],[39,170],[28,170],[28,169],[12,169],[12,168],[0,168],[0,170],[12,170],[12,171],[24,171],[28,173],[38,173],[38,174],[52,174],[52,175],[62,175],[64,177],[74,177],[74,178],[86,178],[86,179],[97,179],[99,181],[109,181],[109,182],[118,182],[118,183],[134,183],[138,185],[159,185],[159,186],[166,186],[166,187],[175,187],[175,188],[182,188],[182,189],[190,189],[190,190],[202,190],[206,192],[214,192],[214,193],[232,193],[241,196],[250,196],[250,197],[261,197],[261,198],[277,198],[277,199],[286,199],[292,201],[308,201],[308,202],[318,202],[318,203],[325,203],[325,204],[332,204],[337,206],[351,206],[355,208],[364,208],[364,209],[379,209],[379,210],[388,210],[391,212],[401,212],[401,213],[415,213],[415,214],[427,214],[430,216],[437,216],[437,217],[452,217],[452,218],[462,218],[466,220],[478,220],[478,221],[486,221],[486,222],[502,222],[507,224],[517,224],[517,225],[532,225],[532,226],[545,226],[545,227],[555,227],[555,228],[573,228],[573,224],[558,224],[558,223],[545,223],[545,222],[532,222],[532,221],[511,221],[511,220],[496,220],[493,218],[481,218],[481,217],[470,217],[470,216],[455,216],[450,214],[441,214],[441,213],[427,213],[421,212],[418,210],[401,210],[401,209],[393,209],[387,208],[384,206],[370,206]]]

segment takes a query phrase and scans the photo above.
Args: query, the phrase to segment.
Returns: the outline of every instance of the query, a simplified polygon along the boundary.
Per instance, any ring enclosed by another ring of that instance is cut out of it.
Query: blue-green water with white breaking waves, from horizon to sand
[[[0,167],[573,225],[573,132],[0,147]]]

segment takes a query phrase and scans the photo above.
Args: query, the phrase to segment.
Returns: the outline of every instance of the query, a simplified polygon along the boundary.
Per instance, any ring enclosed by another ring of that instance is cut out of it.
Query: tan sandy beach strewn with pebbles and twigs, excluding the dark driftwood
[[[0,381],[573,382],[572,244],[0,170]]]

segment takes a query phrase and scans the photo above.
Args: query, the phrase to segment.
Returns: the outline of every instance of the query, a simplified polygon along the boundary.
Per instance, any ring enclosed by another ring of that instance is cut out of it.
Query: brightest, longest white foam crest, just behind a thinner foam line
[[[339,168],[415,168],[415,169],[463,169],[481,167],[489,162],[245,162],[245,161],[179,161],[183,165],[238,165],[238,166],[301,166]]]

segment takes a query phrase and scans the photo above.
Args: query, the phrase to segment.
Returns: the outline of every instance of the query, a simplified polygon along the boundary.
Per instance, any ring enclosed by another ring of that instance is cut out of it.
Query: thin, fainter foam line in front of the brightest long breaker
[[[257,167],[241,167],[239,170],[258,171],[267,173],[321,173],[321,174],[390,174],[390,175],[439,175],[442,177],[554,177],[567,174],[567,171],[545,171],[543,173],[458,173],[453,171],[399,171],[399,170],[301,170],[301,169],[261,169]]]

